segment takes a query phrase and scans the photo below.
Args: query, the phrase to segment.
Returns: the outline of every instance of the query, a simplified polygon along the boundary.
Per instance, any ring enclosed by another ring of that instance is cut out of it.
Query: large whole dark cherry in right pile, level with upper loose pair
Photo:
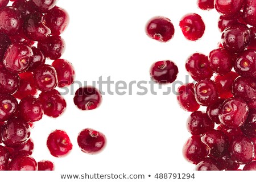
[[[222,32],[221,43],[228,51],[240,53],[250,43],[250,30],[245,24],[234,24]]]

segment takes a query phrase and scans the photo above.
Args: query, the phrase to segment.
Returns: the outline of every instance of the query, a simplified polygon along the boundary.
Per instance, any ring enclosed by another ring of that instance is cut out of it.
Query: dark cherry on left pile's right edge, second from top
[[[49,59],[59,59],[65,51],[64,39],[60,36],[49,36],[47,39],[38,43],[38,48],[43,52],[44,56]]]

